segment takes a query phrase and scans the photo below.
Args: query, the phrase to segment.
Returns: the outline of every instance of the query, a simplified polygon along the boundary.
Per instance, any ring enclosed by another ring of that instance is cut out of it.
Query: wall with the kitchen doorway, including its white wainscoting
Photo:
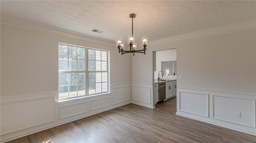
[[[256,135],[255,41],[255,22],[154,41],[146,55],[132,58],[132,83],[153,84],[152,51],[177,48],[177,73],[183,79],[177,75],[176,114]],[[243,116],[234,117],[235,111]]]

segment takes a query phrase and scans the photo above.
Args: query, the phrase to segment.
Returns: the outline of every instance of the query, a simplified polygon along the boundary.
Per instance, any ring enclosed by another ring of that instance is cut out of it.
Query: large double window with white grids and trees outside
[[[108,51],[71,45],[58,51],[59,100],[108,92]]]

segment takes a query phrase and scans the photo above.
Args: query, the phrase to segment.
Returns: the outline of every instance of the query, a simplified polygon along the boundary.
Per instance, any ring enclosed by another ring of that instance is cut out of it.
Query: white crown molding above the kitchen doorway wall
[[[156,46],[156,45],[159,46],[159,45],[168,44],[168,43],[177,42],[177,41],[184,41],[184,40],[189,40],[189,39],[196,39],[196,38],[201,38],[201,37],[220,35],[220,34],[224,34],[224,33],[231,33],[231,32],[242,31],[242,30],[246,30],[246,29],[254,29],[254,28],[256,28],[256,20],[249,20],[249,21],[245,21],[245,22],[239,22],[239,23],[235,23],[235,24],[224,25],[224,26],[220,26],[220,27],[205,29],[202,31],[196,31],[196,32],[177,35],[177,36],[168,37],[168,38],[164,38],[164,39],[159,39],[159,40],[149,42],[149,45],[150,46]]]

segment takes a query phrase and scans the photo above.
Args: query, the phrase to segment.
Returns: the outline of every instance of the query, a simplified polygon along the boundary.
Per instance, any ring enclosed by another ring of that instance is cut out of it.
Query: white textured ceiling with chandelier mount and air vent
[[[149,41],[255,20],[256,1],[0,1],[1,14],[102,39]],[[99,34],[92,29],[104,31]]]

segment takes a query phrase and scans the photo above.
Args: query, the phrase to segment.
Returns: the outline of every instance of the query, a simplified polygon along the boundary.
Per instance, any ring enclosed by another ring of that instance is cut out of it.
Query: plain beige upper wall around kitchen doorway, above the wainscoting
[[[179,86],[256,92],[255,29],[149,46],[147,53],[159,47],[177,48]],[[132,57],[132,82],[152,84],[150,69],[152,54]]]

